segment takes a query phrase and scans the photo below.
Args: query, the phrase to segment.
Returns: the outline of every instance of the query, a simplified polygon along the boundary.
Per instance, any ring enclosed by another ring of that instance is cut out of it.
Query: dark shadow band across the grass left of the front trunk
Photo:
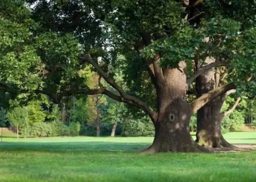
[[[50,151],[50,152],[136,152],[150,143],[117,142],[0,142],[0,151]]]

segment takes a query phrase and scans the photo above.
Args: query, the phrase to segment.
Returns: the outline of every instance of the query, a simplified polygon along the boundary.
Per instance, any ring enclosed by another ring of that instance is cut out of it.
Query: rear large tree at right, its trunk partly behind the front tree
[[[208,4],[208,2],[206,1],[205,4]],[[218,8],[218,10],[216,10],[216,8]],[[244,36],[246,36],[248,31],[249,32],[252,31],[255,27],[255,23],[256,23],[256,18],[254,17],[254,12],[256,11],[255,4],[253,4],[250,1],[243,1],[243,2],[220,1],[219,6],[213,6],[211,9],[212,11],[207,11],[208,16],[216,16],[216,14],[218,14],[223,18],[229,18],[236,22],[239,22],[240,35],[234,34],[233,38],[228,37],[228,40],[227,40],[227,34],[226,34],[227,32],[223,31],[222,29],[225,26],[220,26],[221,24],[218,24],[218,22],[216,22],[215,26],[218,27],[217,29],[218,32],[216,32],[214,36],[209,37],[206,41],[206,44],[209,44],[209,43],[214,44],[214,42],[216,42],[217,40],[216,45],[219,49],[216,49],[217,52],[213,54],[214,57],[211,57],[211,58],[208,57],[205,61],[195,60],[195,63],[196,63],[195,69],[198,70],[200,66],[202,66],[203,64],[207,65],[210,63],[214,63],[214,62],[216,63],[218,61],[223,61],[223,60],[228,61],[231,64],[236,64],[236,67],[239,65],[242,67],[242,69],[239,68],[239,69],[236,69],[235,72],[232,72],[234,71],[234,69],[227,68],[227,67],[226,68],[217,67],[216,69],[212,68],[204,72],[203,74],[198,76],[198,78],[196,79],[195,90],[196,90],[197,97],[200,97],[203,94],[209,92],[210,90],[225,84],[226,82],[228,82],[227,79],[234,79],[236,80],[236,82],[240,82],[239,84],[237,84],[238,86],[242,86],[244,84],[241,84],[241,82],[244,82],[244,83],[250,82],[250,80],[253,78],[253,76],[250,74],[252,72],[254,73],[253,71],[254,60],[248,59],[248,57],[250,57],[250,55],[253,53],[243,49],[245,48],[244,46],[253,45],[253,42],[254,42],[253,38],[248,39],[248,37],[246,38]],[[206,10],[205,6],[202,6],[201,11],[203,12],[205,10]],[[249,44],[244,46],[241,46],[242,44],[239,45],[238,43],[242,43],[242,41],[245,41],[245,42],[247,41],[247,44],[248,43]],[[227,46],[227,44],[230,44],[230,43],[234,45]],[[252,48],[251,50],[254,50],[254,49],[255,47]],[[241,61],[241,59],[240,60],[238,59],[238,62],[237,62],[236,57],[238,55],[230,54],[230,52],[232,51],[240,54],[244,54],[246,55],[246,57],[244,57],[243,61]],[[235,60],[236,60],[236,63],[235,63]],[[251,71],[249,70],[249,67],[246,66],[247,61],[250,61],[251,62],[250,64],[252,64]],[[239,70],[248,70],[248,72],[244,74],[242,77],[239,77],[239,79],[236,79],[238,77],[234,76],[234,74],[237,74],[237,72],[240,72]],[[226,113],[221,113],[221,108],[226,97],[229,94],[234,93],[235,91],[236,90],[231,90],[226,92],[225,94],[222,94],[214,98],[214,100],[212,100],[211,102],[206,104],[204,107],[202,107],[200,110],[198,110],[197,112],[198,131],[196,135],[197,137],[196,141],[200,143],[200,145],[204,145],[207,147],[234,147],[230,145],[222,136],[221,122],[226,115],[230,114],[234,110],[234,108],[240,101],[240,96],[243,95],[241,90],[237,94],[238,99],[234,103],[234,106],[230,108],[230,110],[228,110]]]

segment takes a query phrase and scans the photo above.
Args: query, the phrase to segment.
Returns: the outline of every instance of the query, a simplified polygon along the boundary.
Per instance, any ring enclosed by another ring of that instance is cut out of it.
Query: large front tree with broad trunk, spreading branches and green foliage
[[[238,21],[221,14],[203,16],[204,12],[218,11],[218,7],[229,10],[226,2],[206,2],[36,2],[32,18],[40,27],[31,32],[36,37],[33,37],[34,47],[44,67],[37,74],[40,75],[40,82],[36,88],[35,84],[29,88],[16,84],[20,89],[16,92],[46,94],[56,103],[74,94],[105,94],[142,109],[150,117],[155,126],[155,137],[145,152],[208,151],[190,136],[191,115],[210,100],[236,88],[238,84],[242,85],[248,73],[242,75],[242,79],[231,79],[228,84],[207,91],[192,104],[188,103],[186,92],[196,77],[213,67],[229,65],[230,70],[238,70],[232,75],[234,78],[243,74],[242,61],[248,60],[246,68],[250,66],[249,60],[255,61],[254,53],[251,54],[255,48],[251,39],[255,29],[239,34]],[[205,11],[198,11],[202,6]],[[225,35],[224,47],[219,46],[220,33]],[[214,41],[205,43],[202,40],[206,37],[214,37]],[[228,53],[228,59],[202,64],[193,73],[195,59],[204,61],[222,53]],[[123,56],[118,58],[116,55]],[[88,78],[79,74],[88,64],[99,74],[97,88],[84,84]],[[240,67],[237,66],[239,64]],[[124,80],[130,83],[128,90],[125,91],[123,85],[113,78],[115,70],[122,70]],[[101,79],[114,91],[104,87]],[[9,86],[13,87],[6,84],[6,90],[10,90]],[[154,93],[155,96],[152,96]]]

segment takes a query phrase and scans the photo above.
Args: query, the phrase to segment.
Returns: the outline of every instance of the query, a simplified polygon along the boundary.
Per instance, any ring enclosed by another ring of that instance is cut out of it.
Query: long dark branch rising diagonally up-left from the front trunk
[[[151,119],[155,120],[156,121],[156,112],[154,112],[153,110],[151,110],[146,103],[142,102],[141,100],[139,100],[138,98],[134,97],[134,96],[131,96],[129,94],[127,94],[126,92],[124,92],[124,90],[118,86],[118,84],[106,73],[104,72],[104,70],[102,70],[102,68],[92,60],[92,58],[90,57],[90,55],[86,55],[85,57],[82,57],[81,58],[82,61],[84,62],[88,62],[90,63],[94,68],[96,68],[98,74],[104,78],[104,80],[106,82],[108,82],[108,84],[110,84],[114,89],[116,89],[119,94],[120,94],[120,97],[126,101],[126,103],[131,102],[131,103],[128,103],[128,104],[132,104],[135,105],[135,106],[138,106],[140,108],[142,108],[146,114],[148,114]],[[106,92],[106,91],[105,91]],[[103,93],[103,94],[106,94],[106,93]],[[110,93],[108,93],[110,94]],[[113,96],[113,95],[112,95]],[[123,102],[123,101],[122,101]]]

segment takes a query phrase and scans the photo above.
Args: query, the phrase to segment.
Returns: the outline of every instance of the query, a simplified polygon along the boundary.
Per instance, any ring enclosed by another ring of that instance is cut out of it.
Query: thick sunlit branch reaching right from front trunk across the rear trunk
[[[218,88],[215,88],[214,90],[211,90],[210,92],[202,95],[201,97],[197,98],[192,104],[192,112],[196,113],[200,108],[202,108],[205,104],[210,102],[215,97],[220,96],[221,94],[224,94],[228,90],[232,90],[235,88],[236,86],[234,84],[227,84],[227,85],[223,85]]]

